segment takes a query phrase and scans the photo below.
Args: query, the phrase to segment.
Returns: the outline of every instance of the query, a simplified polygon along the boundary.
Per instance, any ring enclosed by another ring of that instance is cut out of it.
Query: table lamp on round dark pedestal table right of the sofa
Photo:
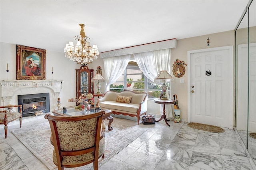
[[[161,86],[163,92],[162,97],[160,98],[161,100],[168,100],[167,97],[165,96],[167,90],[167,86],[165,84],[166,79],[174,79],[166,70],[160,71],[160,73],[154,79],[155,82],[164,82],[163,85]]]

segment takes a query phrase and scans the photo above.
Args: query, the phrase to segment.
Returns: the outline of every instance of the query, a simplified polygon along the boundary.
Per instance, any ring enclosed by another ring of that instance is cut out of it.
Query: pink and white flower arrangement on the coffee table
[[[81,96],[76,98],[68,99],[69,102],[76,102],[76,106],[74,108],[77,111],[85,111],[86,109],[90,110],[90,105],[94,105],[94,98],[91,93],[84,93]]]

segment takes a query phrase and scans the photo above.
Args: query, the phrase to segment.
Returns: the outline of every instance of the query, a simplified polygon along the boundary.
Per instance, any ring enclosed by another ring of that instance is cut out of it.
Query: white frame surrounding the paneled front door
[[[191,106],[190,106],[190,99],[191,99],[191,67],[190,67],[190,58],[191,55],[194,53],[201,53],[201,52],[208,52],[208,51],[218,51],[218,50],[224,50],[224,49],[228,49],[229,50],[229,67],[232,68],[230,70],[229,73],[229,77],[230,77],[230,85],[229,87],[232,87],[229,89],[229,94],[232,95],[232,101],[226,101],[228,103],[228,105],[232,106],[232,108],[229,108],[228,113],[229,113],[229,120],[227,120],[229,122],[229,129],[233,129],[233,101],[234,101],[234,94],[233,94],[233,83],[234,83],[234,56],[233,56],[233,45],[230,46],[224,46],[224,47],[214,47],[214,48],[207,48],[207,49],[197,49],[197,50],[192,50],[192,51],[188,51],[188,123],[191,122]],[[231,102],[231,103],[230,103]]]

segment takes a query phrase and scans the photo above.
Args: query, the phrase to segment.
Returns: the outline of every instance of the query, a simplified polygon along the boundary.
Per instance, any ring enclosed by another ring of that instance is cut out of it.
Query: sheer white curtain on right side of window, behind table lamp
[[[154,81],[154,78],[162,70],[167,70],[170,73],[171,49],[135,53],[133,56],[140,70],[151,81]],[[166,93],[166,97],[170,99],[168,93]],[[160,107],[160,113],[163,114],[163,105]],[[168,117],[172,117],[172,107],[170,105],[166,105],[166,113],[168,113],[166,114]]]

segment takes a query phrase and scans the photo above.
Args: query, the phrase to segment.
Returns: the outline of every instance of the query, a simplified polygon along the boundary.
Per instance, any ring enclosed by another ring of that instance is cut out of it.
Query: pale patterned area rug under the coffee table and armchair
[[[146,130],[132,126],[130,120],[126,120],[127,125],[118,123],[118,118],[114,118],[111,124],[113,130],[106,130],[106,148],[105,158],[98,160],[99,167],[106,161],[115,156],[123,148],[128,146],[133,140],[144,133]],[[134,122],[134,121],[132,121]],[[105,121],[106,129],[108,121]],[[135,123],[135,125],[137,122]],[[130,126],[129,126],[130,125]],[[48,122],[30,126],[28,128],[20,128],[12,131],[12,133],[22,142],[48,169],[56,170],[57,166],[52,162],[52,151],[54,146],[50,143],[50,125]],[[72,168],[72,170],[92,170],[93,164]]]

